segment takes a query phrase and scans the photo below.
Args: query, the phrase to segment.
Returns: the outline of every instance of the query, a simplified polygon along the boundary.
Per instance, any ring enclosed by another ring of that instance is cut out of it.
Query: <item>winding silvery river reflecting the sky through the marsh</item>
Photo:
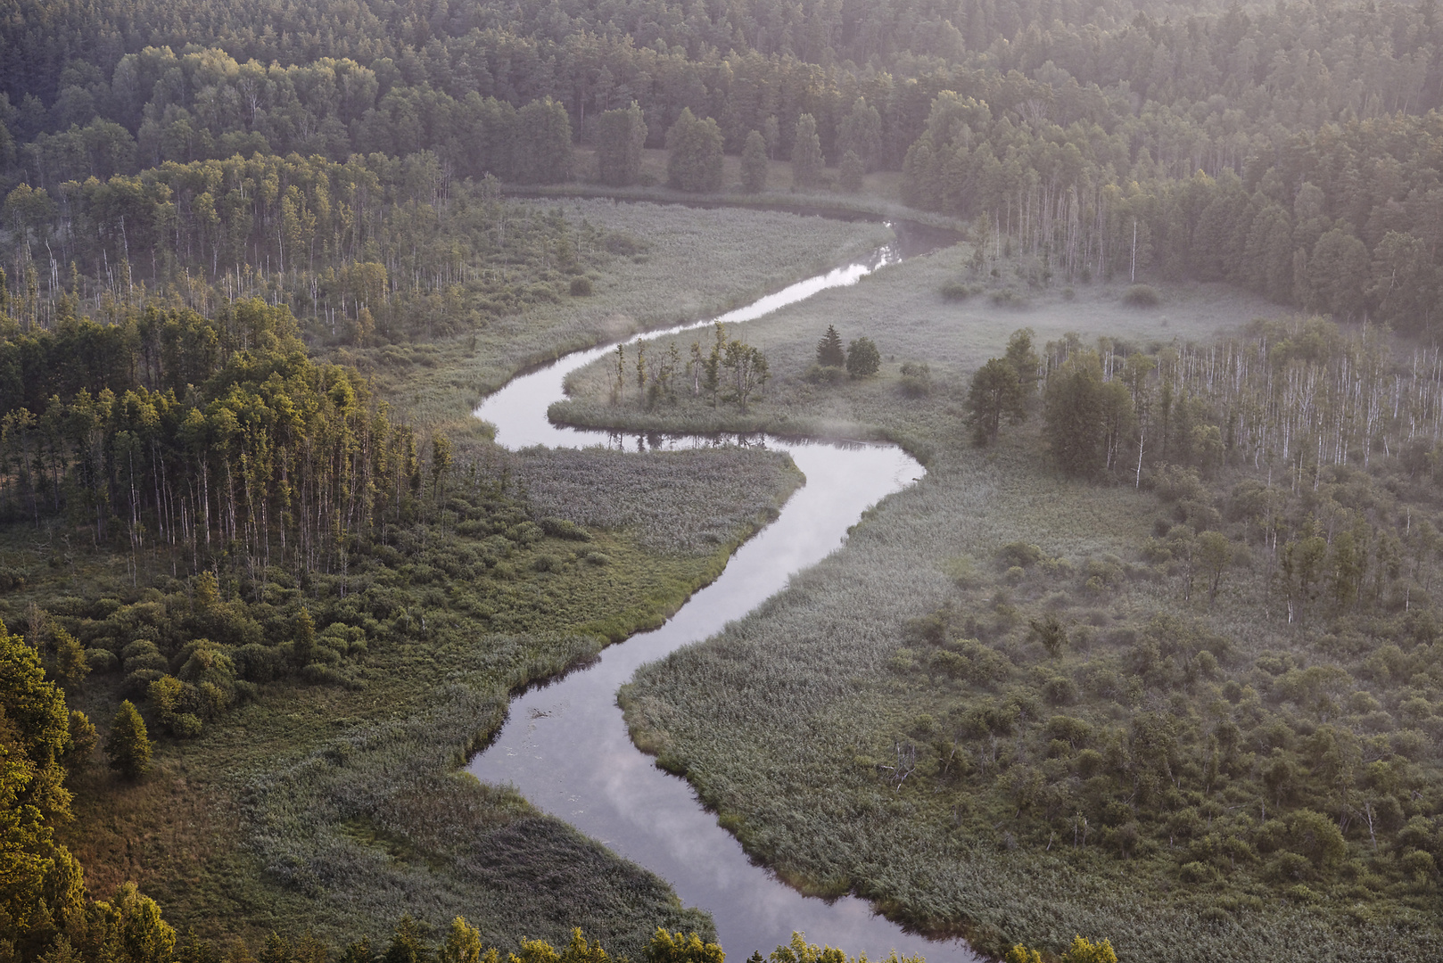
[[[935,232],[900,225],[898,243],[869,258],[807,279],[723,315],[727,323],[753,321],[828,287],[854,284],[864,274],[939,245]],[[711,319],[636,335],[626,341],[706,328]],[[488,397],[476,416],[496,426],[511,449],[531,445],[584,448],[628,445],[613,432],[553,424],[547,407],[563,398],[567,374],[615,349],[577,351],[519,375]],[[753,949],[763,954],[786,943],[792,930],[872,959],[890,950],[929,962],[971,963],[978,957],[960,940],[932,941],[906,933],[856,897],[824,901],[804,897],[755,865],[736,837],[706,811],[691,787],[638,751],[626,733],[616,690],[636,668],[719,632],[788,579],[841,546],[847,527],[880,498],[916,481],[924,469],[892,445],[824,443],[772,436],[730,439],[785,450],[807,475],[781,515],[743,544],[722,576],[698,591],[661,628],[610,645],[584,670],[535,687],[511,703],[502,731],[468,771],[485,783],[511,783],[532,804],[564,819],[667,879],[687,905],[707,910],[733,960]],[[635,437],[639,448],[714,445],[714,436]]]

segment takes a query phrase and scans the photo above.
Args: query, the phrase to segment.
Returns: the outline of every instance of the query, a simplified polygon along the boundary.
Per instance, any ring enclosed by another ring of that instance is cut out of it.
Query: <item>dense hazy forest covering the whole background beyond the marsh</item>
[[[903,170],[903,198],[977,218],[994,257],[1014,244],[1043,282],[1227,279],[1307,310],[1431,323],[1443,222],[1433,3],[1186,16],[1051,3],[746,14],[323,4],[193,19],[40,6],[43,36],[25,16],[0,32],[20,297],[30,286],[56,296],[72,263],[95,284],[126,260],[157,280],[196,273],[234,289],[228,271],[284,276],[304,260],[293,308],[320,315],[322,289],[343,282],[319,274],[368,263],[367,238],[385,245],[374,221],[387,215],[368,209],[387,205],[377,179],[388,193],[404,182],[404,201],[444,219],[453,182],[563,180],[573,140],[603,153],[638,133],[674,146],[693,117],[714,120],[730,153],[756,131],[769,156],[791,157],[815,134],[831,163],[850,153]],[[255,17],[270,26],[257,32]],[[603,120],[631,104],[644,123]],[[310,160],[263,159],[290,154]],[[423,160],[403,175],[378,154]],[[426,273],[377,260],[392,287]],[[455,257],[424,260],[433,289],[466,277]]]

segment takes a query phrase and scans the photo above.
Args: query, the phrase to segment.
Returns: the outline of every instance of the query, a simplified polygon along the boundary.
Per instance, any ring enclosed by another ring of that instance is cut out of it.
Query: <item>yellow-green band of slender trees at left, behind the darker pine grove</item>
[[[597,228],[455,180],[426,152],[167,163],[20,185],[3,214],[0,316],[22,329],[51,326],[63,297],[114,322],[169,292],[199,312],[286,303],[315,334],[365,345],[554,302],[610,257]]]

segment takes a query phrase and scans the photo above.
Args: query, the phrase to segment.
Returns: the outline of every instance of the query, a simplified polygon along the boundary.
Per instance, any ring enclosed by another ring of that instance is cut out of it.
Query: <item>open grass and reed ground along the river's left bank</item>
[[[100,897],[133,879],[177,927],[253,946],[271,930],[310,930],[332,944],[380,938],[403,912],[434,925],[466,915],[502,947],[522,936],[561,944],[582,925],[635,954],[658,924],[711,931],[664,881],[455,768],[499,728],[511,692],[658,624],[720,573],[801,478],[785,456],[746,449],[512,455],[489,446],[470,410],[537,361],[745,303],[890,234],[788,214],[567,206],[635,241],[593,279],[595,296],[333,360],[369,370],[401,419],[452,433],[457,462],[530,489],[531,514],[586,526],[590,541],[512,547],[486,578],[459,583],[442,569],[470,536],[455,526],[403,533],[411,563],[368,578],[395,593],[407,619],[429,625],[418,640],[372,640],[352,684],[268,683],[199,738],[160,738],[154,771],[139,784],[118,783],[101,762],[74,780],[65,840]],[[558,479],[584,484],[563,498],[550,492]],[[0,599],[12,631],[32,606],[63,624],[107,598],[175,605],[186,591],[167,572],[150,573],[159,588],[144,588],[144,573],[133,585],[121,556],[53,530],[10,528],[0,562],[30,576]],[[118,676],[92,676],[75,702],[104,731],[121,696]]]

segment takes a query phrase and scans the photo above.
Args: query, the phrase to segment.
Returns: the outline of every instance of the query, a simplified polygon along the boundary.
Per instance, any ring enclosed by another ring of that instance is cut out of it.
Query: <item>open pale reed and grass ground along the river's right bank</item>
[[[898,920],[964,933],[987,951],[1019,940],[1058,949],[1081,933],[1110,937],[1123,959],[1436,956],[1430,884],[1385,885],[1362,847],[1322,892],[1280,891],[1253,871],[1232,882],[1224,872],[1179,886],[1186,847],[1118,859],[1078,845],[1071,810],[1051,836],[1046,824],[1038,836],[1036,823],[1025,835],[1026,803],[999,803],[949,781],[948,739],[955,755],[954,733],[993,710],[996,697],[987,687],[978,694],[961,681],[965,676],[938,673],[937,660],[928,668],[909,625],[934,612],[993,640],[984,647],[1010,660],[997,671],[1019,680],[1007,690],[1019,705],[1059,705],[1046,689],[1059,673],[1082,680],[1085,694],[1071,712],[1101,728],[1152,705],[1152,694],[1131,710],[1121,705],[1141,689],[1121,694],[1133,690],[1128,650],[1117,640],[1136,637],[1160,612],[1229,640],[1244,667],[1237,679],[1245,681],[1263,653],[1294,653],[1290,664],[1319,658],[1316,640],[1286,625],[1266,579],[1245,565],[1224,579],[1215,601],[1203,592],[1188,598],[1177,579],[1150,573],[1143,546],[1175,524],[1156,494],[1062,478],[1046,462],[1036,419],[1006,430],[991,449],[974,448],[964,424],[970,372],[1003,354],[1017,328],[1033,329],[1039,352],[1066,332],[1085,342],[1108,336],[1156,345],[1206,341],[1277,309],[1214,284],[1159,284],[1159,306],[1136,309],[1123,303],[1120,283],[1029,289],[1007,277],[991,283],[991,290],[1014,289],[1000,299],[1004,305],[986,290],[947,300],[944,283],[975,282],[962,267],[968,254],[962,245],[913,258],[730,331],[762,348],[772,372],[765,397],[745,414],[687,396],[651,411],[612,407],[606,370],[573,375],[571,397],[553,406],[557,420],[887,437],[928,463],[921,482],[870,510],[844,549],[758,612],[644,667],[622,696],[638,742],[657,748],[668,770],[685,772],[747,852],[798,888],[856,892]],[[866,335],[877,344],[879,377],[808,377],[828,323],[844,341]],[[903,362],[925,362],[928,372],[912,368],[909,381]],[[997,553],[1012,543],[1038,546],[1051,562],[1003,573]],[[1027,618],[1043,614],[1072,627],[1078,651],[1049,663],[1027,634]],[[971,657],[973,666],[988,658]],[[739,664],[749,671],[736,673]],[[1097,696],[1088,689],[1094,683],[1108,694]],[[1078,699],[1068,683],[1058,687],[1062,705]],[[1176,699],[1172,710],[1196,712]],[[909,751],[918,752],[915,780],[893,781],[912,771]],[[971,765],[975,775],[977,761]],[[1003,798],[1026,798],[1016,793]]]

